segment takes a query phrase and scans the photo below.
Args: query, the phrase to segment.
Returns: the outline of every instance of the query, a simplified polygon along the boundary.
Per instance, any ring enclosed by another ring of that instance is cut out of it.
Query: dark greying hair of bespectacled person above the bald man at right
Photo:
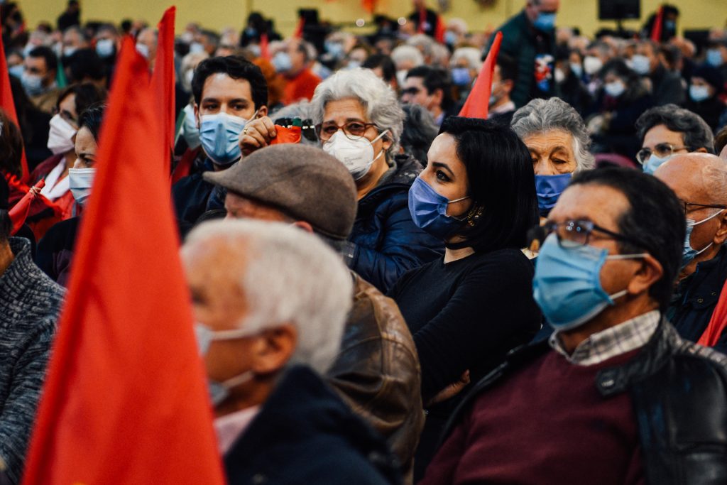
[[[705,148],[709,153],[714,153],[715,137],[712,129],[698,114],[672,104],[644,111],[636,120],[636,129],[642,143],[646,132],[659,124],[672,132],[680,132],[689,151]]]

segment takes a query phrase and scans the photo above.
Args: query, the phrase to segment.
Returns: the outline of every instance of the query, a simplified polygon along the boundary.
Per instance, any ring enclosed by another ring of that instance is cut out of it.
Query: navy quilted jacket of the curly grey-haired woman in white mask
[[[386,293],[403,273],[438,259],[444,241],[417,228],[409,212],[409,187],[422,165],[396,156],[395,168],[358,201],[348,241],[348,267]]]

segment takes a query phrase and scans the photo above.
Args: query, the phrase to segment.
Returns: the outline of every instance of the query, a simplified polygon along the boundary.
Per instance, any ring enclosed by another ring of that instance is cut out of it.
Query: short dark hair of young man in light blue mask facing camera
[[[248,81],[252,91],[252,103],[256,110],[268,105],[268,81],[265,81],[265,76],[257,65],[239,55],[209,57],[197,65],[192,78],[192,94],[197,105],[202,101],[204,81],[216,73],[224,73],[232,79]]]

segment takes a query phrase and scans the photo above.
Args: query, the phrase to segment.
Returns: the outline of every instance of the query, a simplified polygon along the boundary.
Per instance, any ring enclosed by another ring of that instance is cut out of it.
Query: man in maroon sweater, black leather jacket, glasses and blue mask
[[[685,236],[674,193],[631,169],[582,172],[533,235],[555,332],[475,385],[419,483],[720,483],[727,357],[662,313]]]

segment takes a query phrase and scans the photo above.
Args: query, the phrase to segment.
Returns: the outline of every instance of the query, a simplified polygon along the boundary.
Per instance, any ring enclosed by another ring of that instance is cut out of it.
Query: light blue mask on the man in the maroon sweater
[[[566,243],[567,244],[567,243]],[[623,289],[608,294],[601,286],[601,268],[606,260],[626,260],[642,254],[608,254],[594,246],[563,247],[558,236],[547,236],[535,263],[533,297],[545,319],[556,330],[574,329],[615,305]]]

